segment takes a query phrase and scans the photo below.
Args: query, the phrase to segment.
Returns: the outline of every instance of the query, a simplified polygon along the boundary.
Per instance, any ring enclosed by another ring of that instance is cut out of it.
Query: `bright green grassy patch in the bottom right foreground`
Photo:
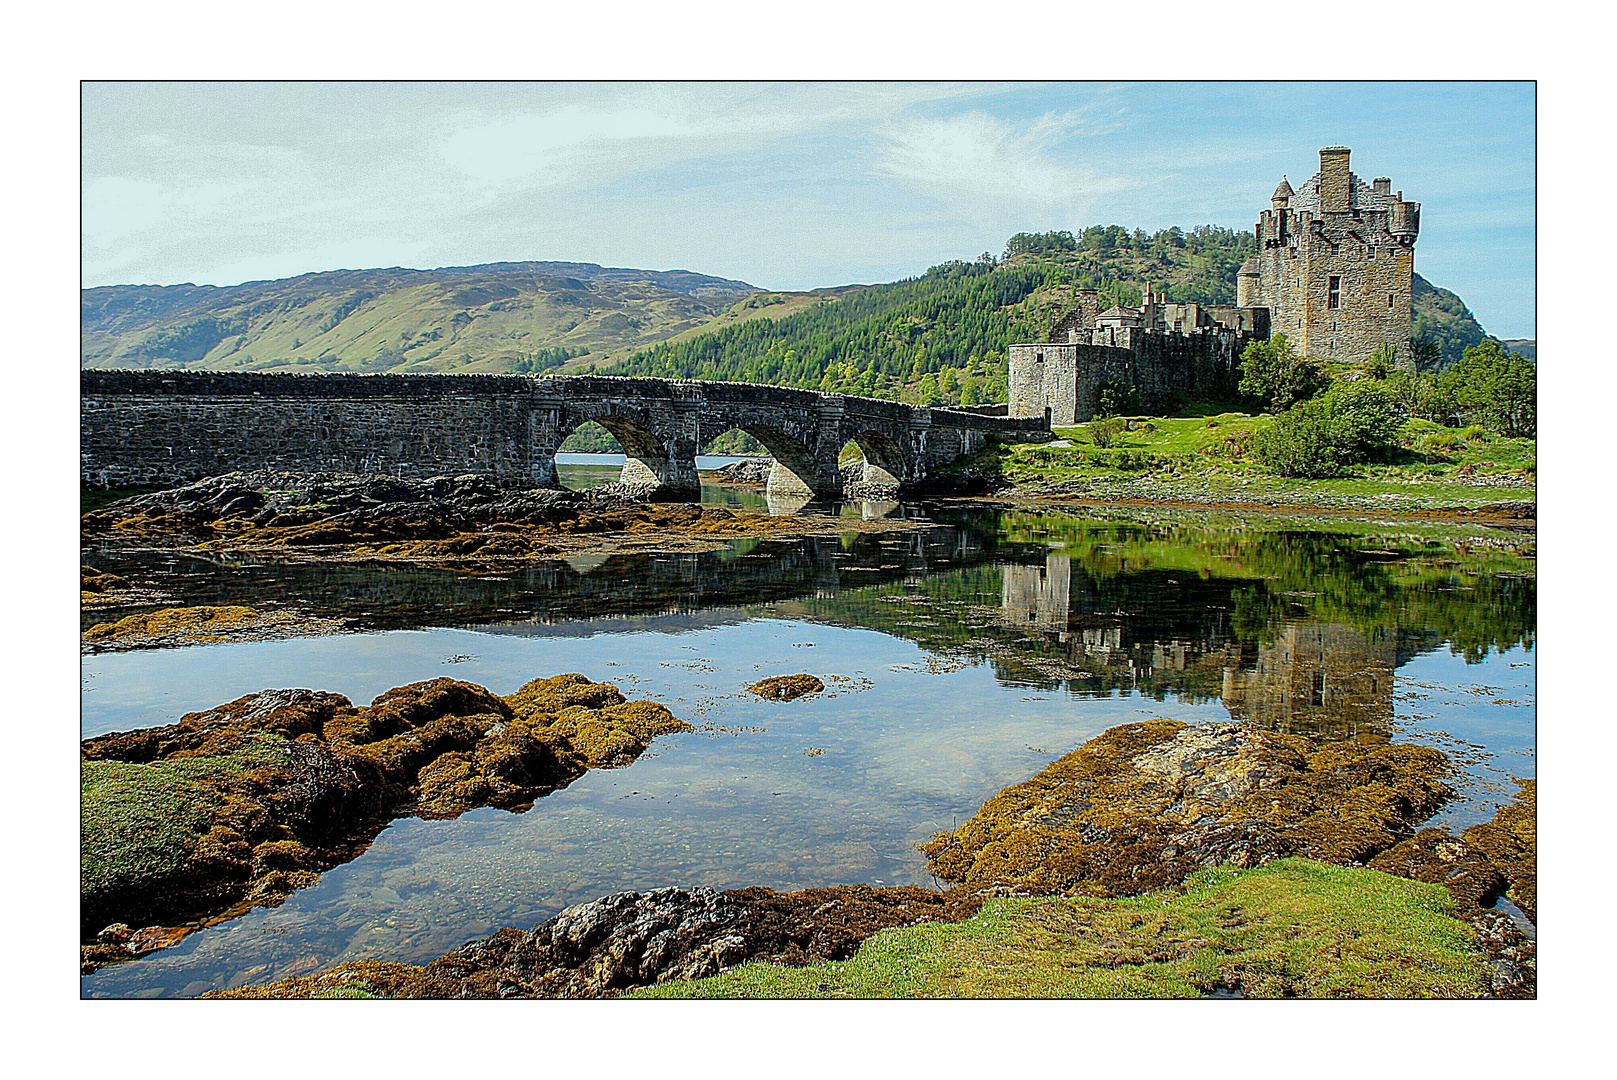
[[[1471,926],[1439,886],[1284,859],[1116,899],[996,899],[875,934],[842,964],[752,964],[642,998],[1473,998]]]

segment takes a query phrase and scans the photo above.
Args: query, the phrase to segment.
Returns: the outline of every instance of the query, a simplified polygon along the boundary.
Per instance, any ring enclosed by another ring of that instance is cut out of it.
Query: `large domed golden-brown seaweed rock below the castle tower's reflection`
[[[1137,896],[1200,867],[1282,855],[1360,863],[1449,787],[1438,750],[1313,742],[1242,724],[1112,728],[922,846],[969,892]]]

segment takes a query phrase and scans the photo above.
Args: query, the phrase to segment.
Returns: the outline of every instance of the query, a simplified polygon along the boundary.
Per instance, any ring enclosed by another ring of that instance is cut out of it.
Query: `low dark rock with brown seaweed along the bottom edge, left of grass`
[[[870,934],[941,918],[922,888],[655,889],[577,904],[527,931],[501,930],[425,967],[343,964],[220,998],[602,998],[705,978],[747,960],[846,960]]]

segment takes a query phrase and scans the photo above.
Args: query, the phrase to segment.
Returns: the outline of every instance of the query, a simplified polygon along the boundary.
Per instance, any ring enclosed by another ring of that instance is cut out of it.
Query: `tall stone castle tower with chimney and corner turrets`
[[[1239,307],[1268,307],[1269,331],[1298,356],[1362,362],[1391,344],[1413,367],[1410,323],[1420,204],[1386,176],[1366,184],[1349,149],[1319,150],[1319,171],[1292,189],[1286,178],[1258,220],[1258,254],[1235,278]]]

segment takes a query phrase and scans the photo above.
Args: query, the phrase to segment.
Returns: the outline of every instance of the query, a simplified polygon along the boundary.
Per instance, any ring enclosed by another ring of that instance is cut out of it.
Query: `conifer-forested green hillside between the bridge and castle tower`
[[[1171,299],[1232,302],[1252,236],[1203,226],[1019,233],[1001,259],[946,262],[918,278],[823,299],[637,352],[619,375],[778,383],[922,404],[1006,399],[1006,346],[1049,333],[1079,288],[1138,304],[1150,281]]]

